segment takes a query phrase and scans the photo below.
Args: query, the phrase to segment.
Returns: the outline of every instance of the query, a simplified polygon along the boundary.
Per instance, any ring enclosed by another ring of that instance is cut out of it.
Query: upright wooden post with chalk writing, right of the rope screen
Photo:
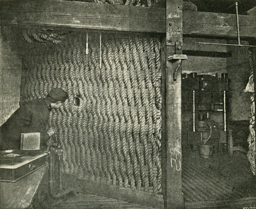
[[[163,197],[166,209],[182,209],[181,154],[181,60],[168,57],[182,54],[182,0],[166,1],[166,140],[163,167]],[[175,71],[178,71],[175,73]],[[177,77],[174,78],[174,75]],[[164,140],[163,139],[163,140]]]

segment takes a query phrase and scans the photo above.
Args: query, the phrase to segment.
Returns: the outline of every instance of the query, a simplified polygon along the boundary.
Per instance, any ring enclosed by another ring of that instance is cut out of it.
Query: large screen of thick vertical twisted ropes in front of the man
[[[67,89],[69,98],[49,120],[64,150],[63,172],[160,192],[160,40],[102,34],[101,69],[99,34],[88,36],[87,63],[85,43],[86,33],[57,44],[27,43],[21,103]]]

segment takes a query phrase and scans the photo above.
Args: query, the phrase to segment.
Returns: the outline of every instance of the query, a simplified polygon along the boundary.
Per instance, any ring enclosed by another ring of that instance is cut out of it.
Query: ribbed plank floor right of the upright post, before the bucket
[[[227,152],[216,152],[205,159],[198,151],[185,150],[182,182],[187,208],[256,203],[256,178],[245,153],[235,152],[231,158]]]

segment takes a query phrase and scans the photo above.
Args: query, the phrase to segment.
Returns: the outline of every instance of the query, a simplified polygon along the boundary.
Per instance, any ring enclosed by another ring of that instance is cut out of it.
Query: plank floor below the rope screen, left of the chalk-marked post
[[[64,190],[71,190],[74,195],[61,199],[51,198],[49,195],[48,174],[46,174],[33,202],[33,209],[153,209],[150,206],[87,193],[79,186],[76,179],[67,178],[67,176],[69,175],[62,176],[63,182],[69,182],[68,184],[63,184],[63,186],[69,185],[68,187],[64,186]],[[58,188],[57,184],[55,186]]]

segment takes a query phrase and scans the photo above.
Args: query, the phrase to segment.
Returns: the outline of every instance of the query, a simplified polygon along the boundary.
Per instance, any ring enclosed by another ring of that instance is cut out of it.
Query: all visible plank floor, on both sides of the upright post
[[[244,153],[235,152],[232,158],[227,152],[214,153],[212,158],[204,159],[199,156],[198,151],[185,149],[182,182],[187,209],[233,209],[246,206],[249,208],[256,204],[256,178],[250,171]],[[41,190],[47,193],[47,180],[42,184]],[[78,186],[72,190],[76,192],[76,196],[65,200],[55,201],[43,195],[39,197],[39,201],[35,201],[35,208],[151,209],[148,206],[88,194]]]

